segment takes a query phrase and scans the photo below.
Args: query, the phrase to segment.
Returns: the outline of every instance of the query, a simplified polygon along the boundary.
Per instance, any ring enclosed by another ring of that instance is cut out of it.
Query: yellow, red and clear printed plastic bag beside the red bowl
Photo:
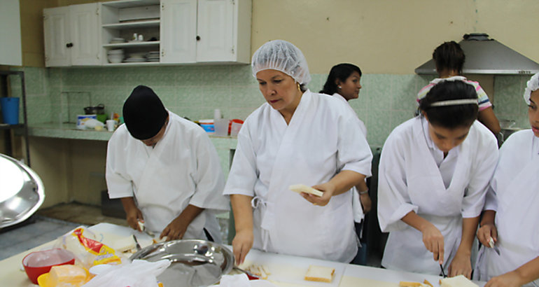
[[[82,227],[60,237],[57,245],[71,251],[80,265],[87,269],[94,265],[122,262],[113,248],[95,240],[93,233]]]

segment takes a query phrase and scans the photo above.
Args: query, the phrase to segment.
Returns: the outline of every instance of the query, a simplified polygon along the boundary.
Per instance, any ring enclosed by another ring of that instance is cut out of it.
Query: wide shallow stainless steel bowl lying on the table
[[[155,262],[170,260],[158,276],[164,286],[209,286],[217,283],[234,266],[234,254],[227,247],[206,240],[183,239],[153,244],[131,258]]]

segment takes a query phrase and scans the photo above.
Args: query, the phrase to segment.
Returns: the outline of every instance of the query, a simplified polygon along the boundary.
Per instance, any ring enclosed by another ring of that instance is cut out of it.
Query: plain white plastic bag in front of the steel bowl
[[[98,265],[90,268],[96,276],[85,287],[158,287],[157,276],[169,267],[169,260],[133,260],[123,265]]]

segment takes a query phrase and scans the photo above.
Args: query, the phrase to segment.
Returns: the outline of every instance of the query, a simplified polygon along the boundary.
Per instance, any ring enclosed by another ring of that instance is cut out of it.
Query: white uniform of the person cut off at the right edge
[[[481,247],[474,272],[478,280],[488,281],[539,256],[538,174],[539,139],[532,130],[515,132],[500,148],[484,207],[496,211],[500,255]]]

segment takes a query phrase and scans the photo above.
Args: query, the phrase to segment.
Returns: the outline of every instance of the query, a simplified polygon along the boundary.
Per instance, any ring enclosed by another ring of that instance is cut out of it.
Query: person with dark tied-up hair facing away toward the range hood
[[[475,91],[477,92],[477,99],[479,101],[479,114],[477,115],[477,119],[483,125],[488,127],[493,134],[498,134],[501,131],[500,123],[498,122],[496,115],[494,115],[492,104],[489,97],[486,95],[486,92],[484,92],[479,83],[468,80],[462,76],[465,55],[461,45],[458,45],[455,41],[444,42],[434,50],[433,59],[436,65],[438,78],[431,80],[428,85],[419,90],[417,102],[419,103],[419,101],[425,97],[433,85],[436,85],[443,80],[463,80],[465,83],[475,87]]]

